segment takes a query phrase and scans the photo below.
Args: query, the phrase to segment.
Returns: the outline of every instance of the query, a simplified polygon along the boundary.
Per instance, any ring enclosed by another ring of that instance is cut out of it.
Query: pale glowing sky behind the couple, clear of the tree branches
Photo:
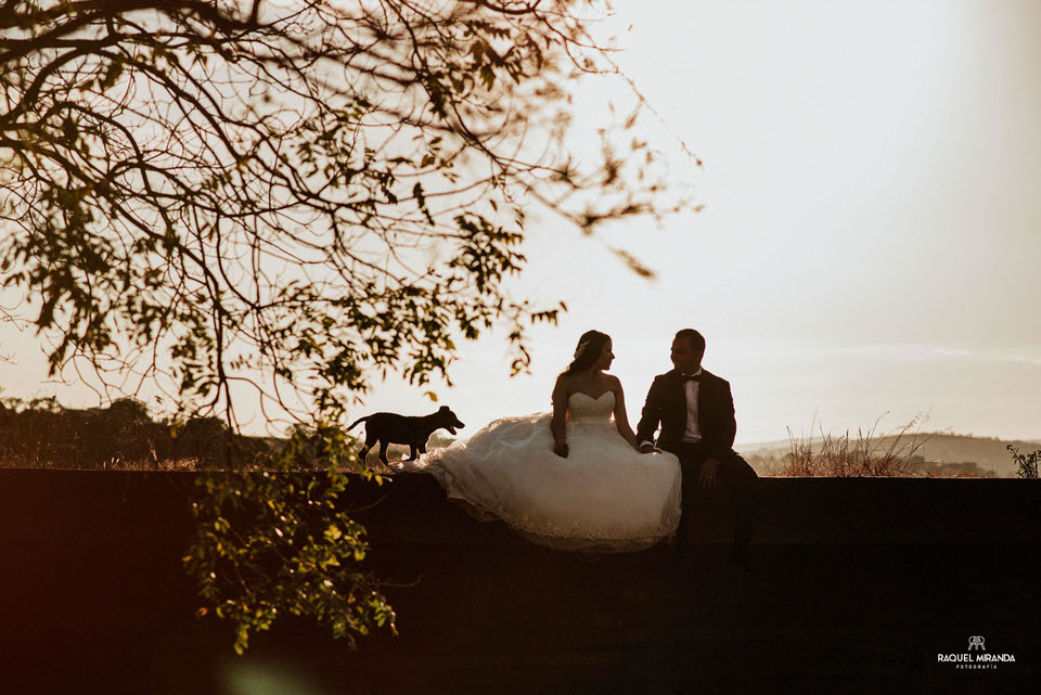
[[[465,435],[547,410],[578,336],[597,329],[635,422],[672,335],[695,327],[705,368],[731,382],[738,443],[915,417],[1041,438],[1041,3],[614,5],[595,31],[617,36],[658,146],[683,159],[682,141],[704,163],[690,179],[704,209],[604,233],[653,281],[537,216],[512,291],[569,310],[531,332],[531,373],[510,378],[488,335],[461,346],[437,403],[390,375],[358,416],[448,404]],[[3,395],[95,404],[42,379],[29,335],[0,330],[16,356],[0,364]]]

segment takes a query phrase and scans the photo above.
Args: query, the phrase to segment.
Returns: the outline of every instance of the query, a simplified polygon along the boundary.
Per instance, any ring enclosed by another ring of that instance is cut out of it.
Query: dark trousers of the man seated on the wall
[[[704,504],[707,493],[697,485],[707,453],[701,442],[681,442],[676,450],[683,476],[683,500],[680,506],[680,525],[676,531],[676,553],[680,557],[691,550],[691,513],[696,505]],[[745,549],[751,542],[751,532],[756,511],[756,493],[759,476],[744,459],[729,451],[718,459],[716,468],[717,485],[730,491],[734,502],[734,548]]]

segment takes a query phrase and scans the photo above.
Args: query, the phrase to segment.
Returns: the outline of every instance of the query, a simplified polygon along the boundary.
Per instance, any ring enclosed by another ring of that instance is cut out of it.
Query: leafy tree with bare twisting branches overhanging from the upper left
[[[597,162],[565,147],[566,83],[605,65],[576,8],[0,0],[0,273],[39,308],[51,372],[149,381],[205,441],[229,438],[195,419],[234,430],[249,398],[310,427],[272,465],[310,447],[331,471],[320,504],[291,478],[204,478],[187,562],[236,648],[287,601],[337,634],[393,626],[382,597],[340,622],[373,581],[334,513],[336,471],[357,465],[337,427],[374,371],[447,377],[457,342],[496,324],[526,369],[525,331],[560,310],[504,285],[526,206],[589,233],[682,203],[661,203],[645,142],[601,130]],[[288,526],[261,523],[272,509]],[[305,530],[332,525],[344,538]]]

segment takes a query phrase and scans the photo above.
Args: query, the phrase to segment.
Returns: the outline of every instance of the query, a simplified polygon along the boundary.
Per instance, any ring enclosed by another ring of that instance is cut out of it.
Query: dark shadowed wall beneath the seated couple
[[[1041,487],[764,479],[758,575],[670,550],[581,556],[478,524],[426,476],[354,501],[399,638],[303,621],[253,639],[196,619],[185,474],[0,471],[2,693],[1031,692]],[[1014,664],[938,664],[973,635]]]

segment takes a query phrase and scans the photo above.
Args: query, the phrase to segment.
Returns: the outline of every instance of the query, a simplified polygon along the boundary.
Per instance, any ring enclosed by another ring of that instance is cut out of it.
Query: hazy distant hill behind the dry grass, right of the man
[[[878,447],[887,448],[892,439],[892,437],[879,439]],[[911,439],[910,435],[904,435],[898,448],[910,443]],[[811,443],[819,447],[821,442],[822,439],[818,437]],[[1005,447],[1012,445],[1019,450],[1019,453],[1041,449],[1041,439],[998,439],[948,433],[921,433],[914,438],[914,443],[922,445],[915,455],[922,456],[926,463],[937,465],[975,463],[982,472],[991,472],[999,478],[1016,477],[1016,464]],[[767,468],[771,462],[780,463],[784,454],[791,451],[787,440],[738,445],[734,448],[760,474],[768,473]]]

